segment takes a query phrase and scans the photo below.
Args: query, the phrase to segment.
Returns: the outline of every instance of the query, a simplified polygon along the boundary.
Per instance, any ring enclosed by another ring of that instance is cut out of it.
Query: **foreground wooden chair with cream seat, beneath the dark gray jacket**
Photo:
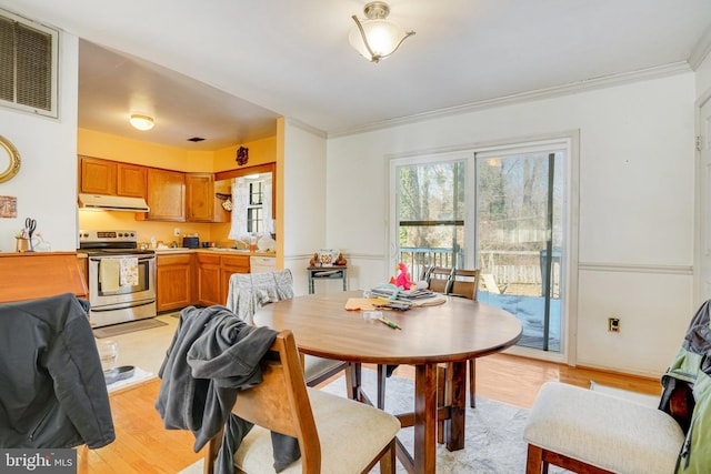
[[[282,331],[263,360],[263,381],[237,395],[232,413],[254,426],[233,457],[238,472],[274,472],[271,432],[297,438],[301,456],[287,473],[367,473],[380,463],[394,473],[399,420],[364,403],[307,387],[291,331]],[[206,448],[212,473],[222,433]]]

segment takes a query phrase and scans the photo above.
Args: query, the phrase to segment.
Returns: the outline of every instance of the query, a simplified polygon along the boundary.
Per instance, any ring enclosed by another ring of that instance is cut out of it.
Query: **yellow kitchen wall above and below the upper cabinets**
[[[249,165],[276,161],[274,139],[247,142],[217,151],[189,151],[157,145],[149,142],[124,139],[92,130],[78,129],[77,152],[81,155],[122,161],[144,167],[163,168],[182,172],[216,172],[239,168],[236,162],[237,149],[249,148]],[[79,229],[87,230],[134,230],[139,242],[150,242],[151,238],[167,245],[176,241],[182,246],[183,235],[194,235],[200,241],[227,245],[229,224],[202,224],[189,222],[137,221],[132,212],[79,210]],[[180,235],[176,235],[179,230]]]

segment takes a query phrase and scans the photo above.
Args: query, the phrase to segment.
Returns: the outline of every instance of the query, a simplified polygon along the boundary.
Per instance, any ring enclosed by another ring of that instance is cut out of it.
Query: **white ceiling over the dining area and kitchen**
[[[0,8],[82,39],[80,127],[192,150],[269,137],[279,115],[340,134],[694,68],[711,50],[709,0],[390,0],[390,19],[417,34],[375,64],[348,43],[350,17],[362,18],[364,3],[0,0]],[[156,128],[132,131],[132,109],[152,114]]]

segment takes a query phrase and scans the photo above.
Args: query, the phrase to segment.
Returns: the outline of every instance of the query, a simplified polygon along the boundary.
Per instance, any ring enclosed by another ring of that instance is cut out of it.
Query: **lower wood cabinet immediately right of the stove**
[[[190,253],[156,256],[158,312],[179,310],[192,304],[192,258]]]

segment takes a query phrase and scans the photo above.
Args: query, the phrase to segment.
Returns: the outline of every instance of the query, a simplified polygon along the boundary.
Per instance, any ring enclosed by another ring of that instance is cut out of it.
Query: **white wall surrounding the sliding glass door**
[[[328,141],[327,236],[369,288],[388,264],[387,157],[580,131],[579,365],[659,376],[692,315],[694,74]],[[573,305],[574,306],[574,305]],[[607,331],[607,319],[622,331]]]

